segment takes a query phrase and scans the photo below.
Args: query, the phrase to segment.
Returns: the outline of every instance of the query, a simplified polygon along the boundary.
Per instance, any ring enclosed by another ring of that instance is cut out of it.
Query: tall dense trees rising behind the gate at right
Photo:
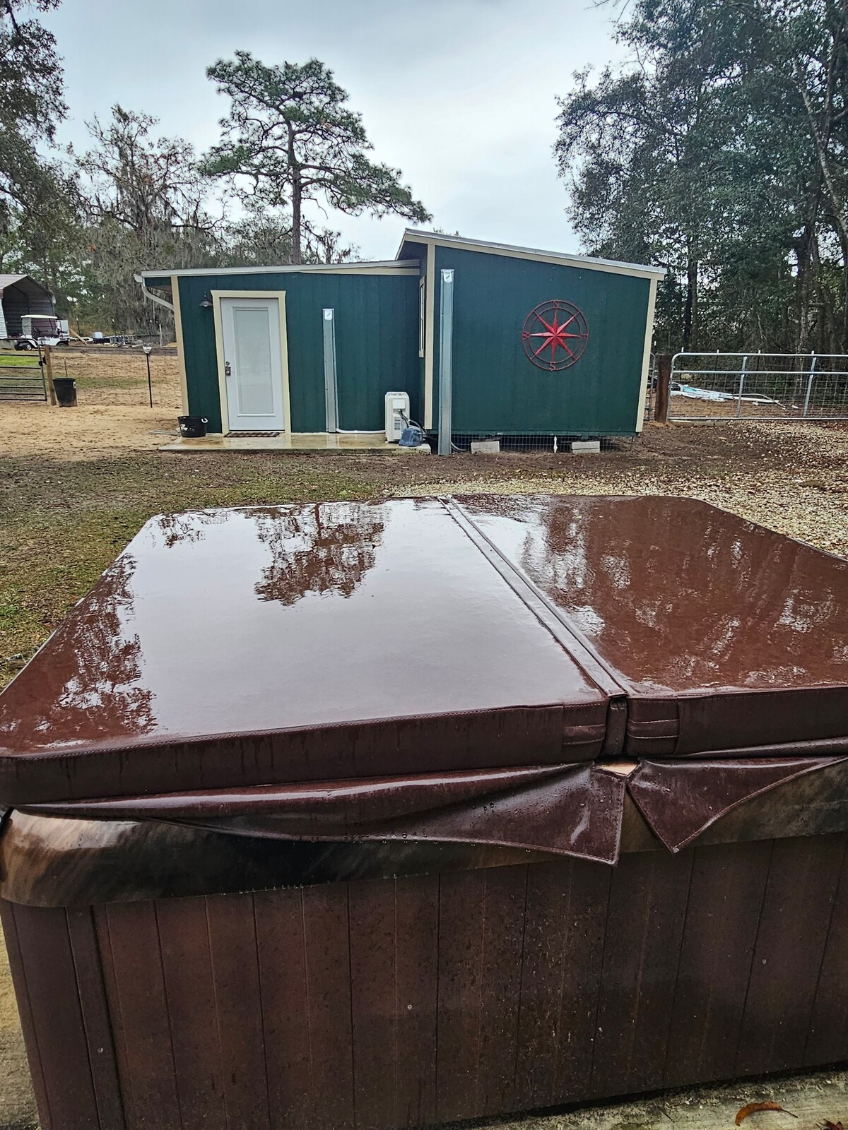
[[[560,101],[586,246],[647,259],[664,347],[848,349],[842,0],[634,0]]]

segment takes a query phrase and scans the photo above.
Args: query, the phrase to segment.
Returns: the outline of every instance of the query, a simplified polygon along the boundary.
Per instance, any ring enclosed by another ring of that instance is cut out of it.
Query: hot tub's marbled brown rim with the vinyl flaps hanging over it
[[[626,790],[626,791],[625,791]],[[848,831],[848,758],[499,770],[12,811],[0,898],[127,902]]]

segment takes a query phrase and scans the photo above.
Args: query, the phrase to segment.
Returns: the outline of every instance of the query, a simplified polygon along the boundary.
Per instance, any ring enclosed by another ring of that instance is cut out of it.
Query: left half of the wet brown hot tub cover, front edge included
[[[453,634],[444,654],[439,617]],[[581,759],[602,740],[605,702],[436,501],[156,519],[0,698],[0,799],[20,796],[11,757],[34,753],[35,765],[40,750],[67,746],[67,759],[38,765],[28,796],[115,794],[133,773],[136,791],[154,779],[167,789],[200,764],[222,786],[328,776],[343,763],[393,770],[398,757],[512,764],[519,739],[522,758],[562,759],[566,745]],[[309,738],[313,728],[325,736]],[[256,738],[253,753],[225,736]],[[150,750],[149,738],[155,753],[129,755]],[[84,764],[83,742],[114,748]],[[172,756],[170,742],[189,745]]]

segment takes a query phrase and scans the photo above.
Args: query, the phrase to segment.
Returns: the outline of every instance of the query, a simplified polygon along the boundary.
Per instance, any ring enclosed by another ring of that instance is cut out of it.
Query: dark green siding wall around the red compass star
[[[434,425],[441,271],[452,267],[455,433],[635,432],[648,279],[453,247],[436,247],[435,267]],[[521,346],[525,318],[552,298],[579,306],[589,327],[585,354],[559,373]]]

